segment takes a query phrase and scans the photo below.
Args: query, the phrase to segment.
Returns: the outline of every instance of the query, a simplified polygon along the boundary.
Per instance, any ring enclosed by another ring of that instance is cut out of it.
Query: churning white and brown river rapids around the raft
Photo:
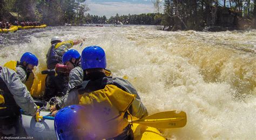
[[[26,33],[23,33],[26,32]],[[0,65],[30,51],[46,65],[53,35],[105,49],[113,76],[136,87],[150,114],[187,113],[184,128],[162,130],[174,139],[256,137],[256,30],[158,31],[155,26],[47,27],[3,35]],[[19,37],[21,36],[21,37]],[[25,41],[22,41],[25,40]],[[39,69],[36,72],[40,72]]]

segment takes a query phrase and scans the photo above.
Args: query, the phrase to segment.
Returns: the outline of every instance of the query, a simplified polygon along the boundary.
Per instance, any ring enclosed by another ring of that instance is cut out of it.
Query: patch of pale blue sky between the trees
[[[140,14],[155,12],[151,0],[87,0],[90,11],[86,13],[107,18],[123,14]]]

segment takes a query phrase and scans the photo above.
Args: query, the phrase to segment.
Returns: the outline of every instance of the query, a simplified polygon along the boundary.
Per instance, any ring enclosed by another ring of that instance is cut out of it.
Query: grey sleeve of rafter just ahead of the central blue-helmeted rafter
[[[74,87],[79,86],[83,82],[83,79],[84,73],[81,67],[72,69],[69,73],[69,86],[67,92],[69,92]]]

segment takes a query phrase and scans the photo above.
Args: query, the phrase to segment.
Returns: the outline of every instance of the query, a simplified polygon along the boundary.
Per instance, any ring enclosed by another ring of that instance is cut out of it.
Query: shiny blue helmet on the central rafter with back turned
[[[89,46],[82,51],[82,69],[106,68],[106,55],[99,46]]]

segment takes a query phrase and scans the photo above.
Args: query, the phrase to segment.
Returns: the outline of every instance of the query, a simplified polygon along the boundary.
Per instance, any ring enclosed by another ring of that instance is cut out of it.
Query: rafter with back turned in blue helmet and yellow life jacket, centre
[[[148,115],[136,89],[125,79],[105,75],[103,48],[86,47],[81,57],[86,73],[83,83],[66,94],[64,103],[58,106],[84,106],[86,113],[82,121],[87,126],[86,134],[96,136],[95,139],[133,139],[128,114],[138,119]]]

